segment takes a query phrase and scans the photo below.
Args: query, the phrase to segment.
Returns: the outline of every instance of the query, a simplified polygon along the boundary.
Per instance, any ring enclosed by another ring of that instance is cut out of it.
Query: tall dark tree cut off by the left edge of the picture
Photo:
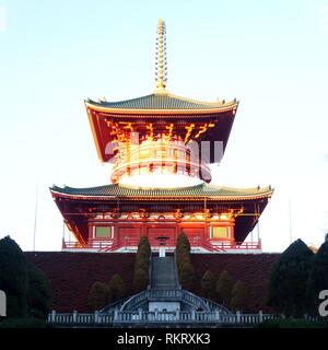
[[[9,317],[25,317],[27,314],[27,269],[20,246],[5,236],[0,240],[0,290],[7,294]]]

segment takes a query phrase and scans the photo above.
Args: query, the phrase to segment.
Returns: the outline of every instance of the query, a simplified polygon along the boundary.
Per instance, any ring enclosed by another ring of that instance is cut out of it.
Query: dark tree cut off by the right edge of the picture
[[[328,290],[328,242],[325,242],[314,255],[313,268],[307,282],[309,312],[317,314],[320,291]]]

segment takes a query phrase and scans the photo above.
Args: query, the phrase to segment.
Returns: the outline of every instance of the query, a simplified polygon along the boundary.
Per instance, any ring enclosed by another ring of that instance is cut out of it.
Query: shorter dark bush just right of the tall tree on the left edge
[[[50,282],[46,275],[34,264],[27,262],[26,267],[28,277],[28,314],[35,318],[47,319],[51,307]]]

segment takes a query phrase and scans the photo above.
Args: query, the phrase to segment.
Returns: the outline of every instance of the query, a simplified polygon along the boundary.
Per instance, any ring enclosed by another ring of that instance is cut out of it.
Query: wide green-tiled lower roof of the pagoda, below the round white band
[[[58,187],[50,188],[52,195],[72,197],[72,198],[90,198],[90,199],[109,199],[109,198],[165,198],[179,199],[183,197],[216,200],[236,200],[236,199],[256,199],[271,197],[273,189],[268,187],[253,187],[253,188],[232,188],[211,184],[200,184],[190,187],[178,188],[145,188],[134,187],[121,184],[110,184],[98,187],[89,188],[73,188],[73,187]]]

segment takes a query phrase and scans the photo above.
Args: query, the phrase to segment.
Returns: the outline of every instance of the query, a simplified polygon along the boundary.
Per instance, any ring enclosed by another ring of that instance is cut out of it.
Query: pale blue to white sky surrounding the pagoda
[[[52,184],[109,182],[83,100],[154,89],[155,31],[167,27],[168,90],[241,101],[213,184],[276,192],[260,220],[266,252],[328,232],[328,0],[1,1],[0,237],[59,250]],[[256,234],[255,234],[256,236]]]

